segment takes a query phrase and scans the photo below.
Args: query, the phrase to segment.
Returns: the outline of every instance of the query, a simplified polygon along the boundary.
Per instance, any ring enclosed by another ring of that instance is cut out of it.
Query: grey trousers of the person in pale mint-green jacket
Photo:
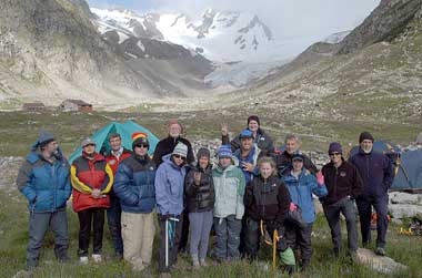
[[[214,256],[218,259],[238,259],[242,220],[235,219],[234,215],[225,218],[214,217],[214,229],[217,234]]]

